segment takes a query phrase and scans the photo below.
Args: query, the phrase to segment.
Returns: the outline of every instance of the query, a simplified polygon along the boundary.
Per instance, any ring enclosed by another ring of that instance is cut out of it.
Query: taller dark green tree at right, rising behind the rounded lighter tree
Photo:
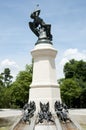
[[[86,62],[70,60],[64,66],[64,74],[65,78],[76,78],[77,80],[86,81]]]

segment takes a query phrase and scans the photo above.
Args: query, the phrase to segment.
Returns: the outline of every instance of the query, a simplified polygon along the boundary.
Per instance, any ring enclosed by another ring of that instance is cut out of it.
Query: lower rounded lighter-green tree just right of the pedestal
[[[61,97],[69,107],[80,107],[81,87],[74,79],[65,79],[60,85]]]

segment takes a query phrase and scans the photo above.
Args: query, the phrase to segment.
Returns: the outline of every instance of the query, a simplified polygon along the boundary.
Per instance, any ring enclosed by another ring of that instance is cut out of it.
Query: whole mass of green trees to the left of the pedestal
[[[29,98],[32,65],[26,65],[25,70],[18,73],[15,82],[11,83],[11,78],[8,68],[0,75],[0,107],[22,108]]]

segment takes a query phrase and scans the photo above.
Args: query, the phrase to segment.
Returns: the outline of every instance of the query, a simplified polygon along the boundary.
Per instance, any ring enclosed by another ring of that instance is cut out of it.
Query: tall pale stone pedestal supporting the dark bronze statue
[[[50,111],[53,112],[55,101],[61,101],[55,67],[57,51],[48,42],[45,40],[36,44],[31,51],[34,66],[29,101],[36,103],[37,112],[40,110],[40,102],[49,102]]]

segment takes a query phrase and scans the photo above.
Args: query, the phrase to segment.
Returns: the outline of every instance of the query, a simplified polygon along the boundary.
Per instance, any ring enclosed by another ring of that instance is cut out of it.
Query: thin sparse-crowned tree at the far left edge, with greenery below
[[[13,76],[10,74],[10,69],[5,68],[4,72],[0,74],[0,108],[10,107],[10,91],[9,86],[11,86],[11,82]]]

